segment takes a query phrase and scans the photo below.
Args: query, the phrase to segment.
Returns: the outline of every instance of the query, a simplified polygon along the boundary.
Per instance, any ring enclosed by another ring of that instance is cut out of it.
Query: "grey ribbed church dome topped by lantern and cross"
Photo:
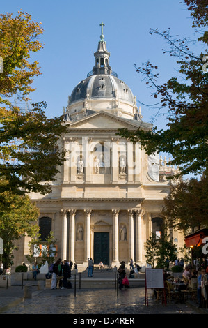
[[[101,25],[103,28],[103,24]],[[136,97],[127,84],[112,71],[103,31],[100,38],[97,52],[94,53],[95,66],[69,96],[65,121],[76,121],[100,110],[135,119]]]

